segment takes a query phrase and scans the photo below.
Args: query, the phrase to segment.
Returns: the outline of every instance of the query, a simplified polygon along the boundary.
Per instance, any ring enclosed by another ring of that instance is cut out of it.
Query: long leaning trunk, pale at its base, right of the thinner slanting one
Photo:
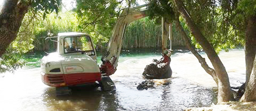
[[[218,102],[226,102],[231,100],[232,97],[229,77],[227,75],[224,65],[220,61],[219,56],[217,55],[209,41],[207,41],[207,39],[203,36],[200,29],[198,29],[196,24],[193,22],[187,10],[185,9],[183,2],[181,0],[174,1],[178,11],[185,18],[186,23],[191,30],[191,33],[196,38],[197,42],[203,47],[203,50],[206,52],[208,58],[213,64],[218,79]]]

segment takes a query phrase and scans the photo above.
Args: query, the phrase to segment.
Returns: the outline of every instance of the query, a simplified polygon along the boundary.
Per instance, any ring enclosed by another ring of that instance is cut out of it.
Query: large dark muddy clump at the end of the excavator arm
[[[164,57],[159,61],[153,59],[153,63],[147,65],[142,75],[146,79],[164,79],[170,78],[173,73],[170,67],[170,62],[163,62]]]

